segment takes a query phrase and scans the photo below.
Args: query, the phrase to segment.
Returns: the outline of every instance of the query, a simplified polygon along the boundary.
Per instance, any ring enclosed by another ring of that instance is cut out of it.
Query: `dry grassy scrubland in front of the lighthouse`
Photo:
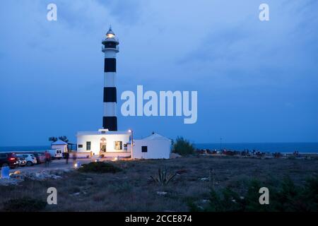
[[[249,159],[237,157],[184,157],[174,160],[118,161],[122,168],[115,174],[70,172],[63,179],[44,182],[25,181],[18,186],[0,187],[2,203],[21,197],[46,201],[47,188],[58,191],[58,204],[47,211],[188,211],[189,201],[208,197],[211,186],[240,189],[242,182],[257,178],[270,185],[289,175],[303,184],[318,173],[318,160]],[[150,179],[158,167],[181,172],[166,186]],[[201,178],[208,178],[208,181]],[[158,195],[157,191],[167,194]]]

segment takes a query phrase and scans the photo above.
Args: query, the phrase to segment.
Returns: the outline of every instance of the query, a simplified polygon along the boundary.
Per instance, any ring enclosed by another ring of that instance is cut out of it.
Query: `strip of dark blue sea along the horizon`
[[[318,153],[318,143],[195,143],[195,148],[209,150],[259,150],[268,153]],[[0,152],[40,151],[50,146],[0,146]]]

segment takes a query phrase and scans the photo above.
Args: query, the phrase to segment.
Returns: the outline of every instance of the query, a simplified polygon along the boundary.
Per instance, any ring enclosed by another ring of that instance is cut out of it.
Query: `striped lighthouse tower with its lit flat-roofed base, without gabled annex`
[[[119,52],[118,39],[112,28],[102,39],[104,53],[104,92],[102,129],[98,131],[78,131],[77,152],[84,156],[100,155],[102,157],[129,157],[131,149],[127,148],[131,132],[117,130],[117,89],[116,89],[116,54]]]

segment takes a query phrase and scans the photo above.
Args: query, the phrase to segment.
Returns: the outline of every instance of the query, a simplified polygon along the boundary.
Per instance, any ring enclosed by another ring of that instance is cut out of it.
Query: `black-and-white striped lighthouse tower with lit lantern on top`
[[[105,53],[102,127],[109,131],[117,131],[116,54],[119,52],[119,42],[114,32],[112,32],[112,28],[108,30],[105,40],[102,40],[102,44],[102,52]]]

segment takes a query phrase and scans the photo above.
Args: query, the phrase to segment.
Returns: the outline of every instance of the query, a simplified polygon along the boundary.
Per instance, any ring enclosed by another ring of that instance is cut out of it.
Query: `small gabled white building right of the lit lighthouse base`
[[[134,159],[168,159],[170,158],[172,141],[158,133],[153,133],[141,140],[134,139],[131,158]],[[128,149],[131,149],[129,143]]]

